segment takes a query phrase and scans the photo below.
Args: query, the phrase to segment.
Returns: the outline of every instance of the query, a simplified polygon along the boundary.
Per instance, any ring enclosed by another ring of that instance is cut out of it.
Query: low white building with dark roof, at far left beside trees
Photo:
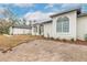
[[[29,25],[14,25],[10,26],[10,34],[31,34],[31,26]]]

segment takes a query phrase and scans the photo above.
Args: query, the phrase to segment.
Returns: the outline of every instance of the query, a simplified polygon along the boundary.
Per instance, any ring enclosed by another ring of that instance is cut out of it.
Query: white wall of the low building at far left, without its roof
[[[31,34],[31,30],[10,28],[10,34]]]

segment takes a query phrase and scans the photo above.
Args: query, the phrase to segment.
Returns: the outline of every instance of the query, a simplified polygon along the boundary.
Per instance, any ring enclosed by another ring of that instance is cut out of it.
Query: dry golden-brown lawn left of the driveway
[[[0,35],[0,51],[7,52],[12,47],[26,43],[33,40],[41,39],[41,36],[33,35]]]

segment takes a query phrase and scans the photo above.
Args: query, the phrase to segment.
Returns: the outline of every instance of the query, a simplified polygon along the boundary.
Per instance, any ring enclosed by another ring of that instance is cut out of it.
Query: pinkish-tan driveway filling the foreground
[[[7,53],[0,52],[0,61],[6,62],[87,62],[87,46],[35,40],[23,43]]]

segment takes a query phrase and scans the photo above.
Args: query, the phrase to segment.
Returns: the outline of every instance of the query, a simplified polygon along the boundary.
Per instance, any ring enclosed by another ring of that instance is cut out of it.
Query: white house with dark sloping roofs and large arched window
[[[32,31],[31,34],[53,39],[85,40],[87,34],[87,14],[83,14],[80,9],[63,11],[51,15],[51,18],[48,21],[32,24],[32,29],[30,29]]]

